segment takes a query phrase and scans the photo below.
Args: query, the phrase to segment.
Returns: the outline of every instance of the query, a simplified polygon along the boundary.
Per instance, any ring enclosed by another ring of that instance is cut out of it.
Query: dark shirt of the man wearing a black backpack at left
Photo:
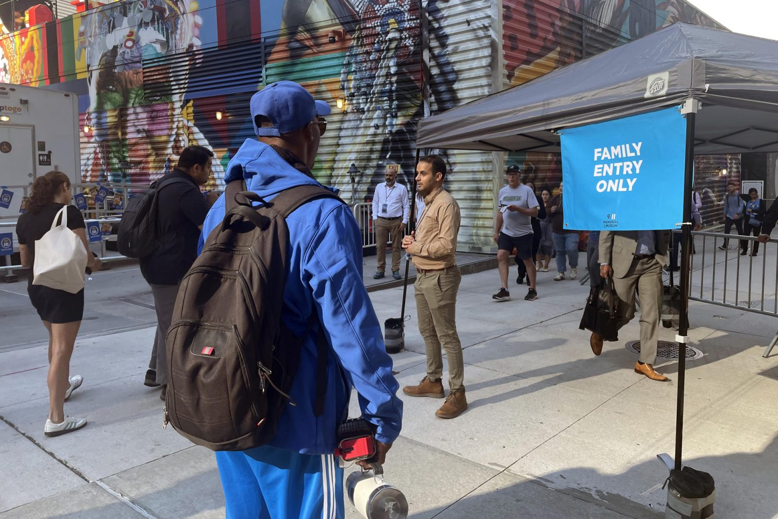
[[[198,226],[208,215],[205,196],[186,171],[174,169],[157,181],[180,178],[159,191],[159,230],[163,233],[160,247],[141,258],[141,272],[152,285],[177,285],[197,259]]]

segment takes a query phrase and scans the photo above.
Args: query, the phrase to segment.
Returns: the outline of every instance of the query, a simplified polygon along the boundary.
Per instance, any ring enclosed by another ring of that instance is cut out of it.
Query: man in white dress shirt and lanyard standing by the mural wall
[[[387,167],[386,182],[376,186],[373,193],[373,225],[376,228],[376,256],[378,268],[373,279],[384,277],[387,268],[387,243],[391,237],[391,272],[394,279],[400,279],[400,246],[408,225],[410,202],[408,189],[397,184],[397,167]]]

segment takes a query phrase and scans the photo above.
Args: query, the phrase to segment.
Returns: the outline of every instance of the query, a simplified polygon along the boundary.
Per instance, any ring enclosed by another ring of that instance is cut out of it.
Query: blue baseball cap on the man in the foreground
[[[251,96],[251,123],[254,133],[260,137],[280,137],[283,133],[303,128],[317,116],[330,114],[326,101],[314,100],[314,96],[293,81],[277,81],[265,86]],[[268,117],[272,128],[258,128],[258,115]]]

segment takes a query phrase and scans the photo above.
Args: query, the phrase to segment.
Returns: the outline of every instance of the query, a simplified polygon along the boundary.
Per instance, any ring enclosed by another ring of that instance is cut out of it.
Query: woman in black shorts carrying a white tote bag
[[[68,176],[50,171],[33,182],[27,210],[16,224],[22,266],[33,268],[27,293],[49,334],[44,434],[50,437],[86,426],[86,419],[65,415],[63,406],[83,381],[80,375],[69,377],[69,371],[84,314],[84,271],[100,268],[100,258],[88,253],[84,219],[69,205],[71,197]]]

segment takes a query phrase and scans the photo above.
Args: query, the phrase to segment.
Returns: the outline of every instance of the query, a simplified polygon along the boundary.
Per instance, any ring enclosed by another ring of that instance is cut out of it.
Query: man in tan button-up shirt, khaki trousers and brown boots
[[[443,398],[443,355],[448,358],[449,393],[446,402],[435,412],[439,418],[456,418],[465,409],[464,361],[457,335],[457,290],[462,275],[456,264],[459,205],[443,189],[446,163],[437,155],[419,159],[416,184],[424,197],[424,212],[419,216],[415,233],[402,240],[402,247],[413,254],[416,268],[414,284],[419,332],[424,338],[427,356],[426,377],[415,386],[402,388],[412,397]]]

